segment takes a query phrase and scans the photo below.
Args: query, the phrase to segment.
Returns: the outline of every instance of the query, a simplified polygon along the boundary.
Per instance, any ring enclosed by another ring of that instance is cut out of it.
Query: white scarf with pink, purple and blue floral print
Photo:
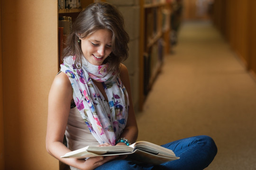
[[[77,109],[100,144],[115,145],[127,123],[129,100],[125,86],[117,72],[107,72],[108,64],[94,66],[82,57],[82,68],[77,69],[74,59],[74,56],[66,57],[61,71],[71,81]],[[102,83],[109,102],[92,79]]]

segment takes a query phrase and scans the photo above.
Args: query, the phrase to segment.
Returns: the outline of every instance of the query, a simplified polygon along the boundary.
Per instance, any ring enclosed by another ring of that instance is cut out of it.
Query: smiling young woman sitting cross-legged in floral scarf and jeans
[[[61,158],[87,145],[125,145],[136,141],[138,129],[128,70],[121,64],[128,57],[128,42],[123,17],[109,3],[93,3],[77,17],[64,49],[64,64],[49,93],[48,153],[70,165],[72,170],[207,167],[217,152],[208,136],[165,144],[181,159],[155,167],[138,166],[118,156],[86,160]],[[64,135],[67,147],[63,144]],[[119,142],[120,138],[126,143]]]

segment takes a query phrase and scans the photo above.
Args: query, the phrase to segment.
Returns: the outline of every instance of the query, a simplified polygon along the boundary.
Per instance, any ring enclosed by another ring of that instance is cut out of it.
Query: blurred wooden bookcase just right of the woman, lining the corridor
[[[142,110],[147,94],[161,71],[164,56],[169,52],[171,2],[140,1],[140,103]]]

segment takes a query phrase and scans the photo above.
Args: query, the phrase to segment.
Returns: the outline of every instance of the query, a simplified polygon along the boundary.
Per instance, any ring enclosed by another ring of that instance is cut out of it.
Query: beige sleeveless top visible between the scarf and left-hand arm
[[[99,145],[99,142],[91,135],[77,107],[70,109],[65,136],[67,147],[72,151],[88,145]]]

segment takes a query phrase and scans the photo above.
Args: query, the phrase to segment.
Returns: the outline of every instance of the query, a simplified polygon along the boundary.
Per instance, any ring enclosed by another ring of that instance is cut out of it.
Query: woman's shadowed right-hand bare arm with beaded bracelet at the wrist
[[[123,64],[121,64],[121,68],[120,68],[120,78],[121,78],[123,84],[125,85],[125,88],[128,92],[128,96],[129,96],[129,112],[128,112],[127,125],[126,125],[125,129],[123,130],[123,133],[121,134],[120,137],[125,137],[126,139],[128,139],[130,141],[130,143],[134,143],[137,140],[138,127],[137,127],[137,121],[136,121],[133,103],[132,103],[128,69]],[[124,143],[119,143],[119,144],[124,144]]]

